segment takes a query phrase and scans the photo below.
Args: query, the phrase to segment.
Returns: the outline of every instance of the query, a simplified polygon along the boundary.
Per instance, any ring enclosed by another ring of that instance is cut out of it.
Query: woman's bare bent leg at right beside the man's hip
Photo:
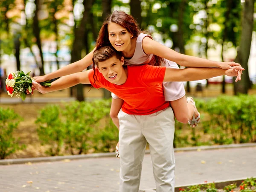
[[[195,118],[199,115],[197,108],[195,108],[195,104],[191,101],[187,102],[186,96],[183,96],[175,101],[171,101],[170,105],[177,121],[179,122],[187,123],[190,119],[192,119],[194,113]],[[192,125],[192,127],[195,127],[195,125]]]

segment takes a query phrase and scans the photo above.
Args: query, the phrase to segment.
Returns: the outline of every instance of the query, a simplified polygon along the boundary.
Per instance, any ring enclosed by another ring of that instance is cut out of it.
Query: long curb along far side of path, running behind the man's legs
[[[227,148],[242,148],[242,147],[256,147],[256,143],[242,143],[242,144],[230,144],[230,145],[212,145],[212,146],[196,146],[185,148],[174,148],[175,152],[186,151],[201,151],[201,150],[216,150]],[[146,150],[145,154],[149,154],[150,151]],[[38,163],[38,162],[53,162],[61,160],[78,160],[89,159],[98,157],[116,157],[114,152],[109,153],[93,153],[93,154],[81,154],[81,155],[66,155],[66,156],[54,156],[54,157],[32,157],[32,158],[20,158],[20,159],[6,159],[0,160],[0,165],[21,164],[21,163]]]

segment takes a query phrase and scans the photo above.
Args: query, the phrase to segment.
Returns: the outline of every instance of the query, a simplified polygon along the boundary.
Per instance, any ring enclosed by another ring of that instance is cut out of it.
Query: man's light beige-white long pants
[[[174,192],[174,114],[166,108],[150,115],[120,110],[120,192],[138,192],[146,143],[149,144],[157,192]]]

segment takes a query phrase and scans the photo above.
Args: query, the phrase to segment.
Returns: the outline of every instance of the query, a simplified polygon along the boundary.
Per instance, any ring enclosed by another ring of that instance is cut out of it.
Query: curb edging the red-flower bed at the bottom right
[[[256,178],[253,177],[253,178]],[[222,180],[222,181],[214,181],[216,189],[223,189],[224,186],[230,185],[232,183],[236,183],[237,186],[239,186],[243,180],[247,178],[239,178],[239,179],[232,179],[232,180]],[[175,192],[179,192],[180,188],[186,189],[189,186],[195,186],[195,185],[206,185],[206,183],[193,183],[191,185],[180,185],[175,186]],[[139,192],[156,192],[156,189],[140,189]]]

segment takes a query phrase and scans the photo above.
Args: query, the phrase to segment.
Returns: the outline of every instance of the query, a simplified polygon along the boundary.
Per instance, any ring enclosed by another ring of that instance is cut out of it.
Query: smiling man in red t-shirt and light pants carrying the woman
[[[104,87],[123,99],[119,118],[120,192],[138,192],[146,143],[149,143],[157,191],[174,192],[174,114],[163,96],[162,82],[194,81],[214,76],[238,76],[239,67],[173,69],[150,65],[123,66],[124,57],[111,47],[94,52],[93,70],[64,76],[51,87],[33,82],[41,93],[79,83]],[[152,100],[154,99],[154,102]]]

